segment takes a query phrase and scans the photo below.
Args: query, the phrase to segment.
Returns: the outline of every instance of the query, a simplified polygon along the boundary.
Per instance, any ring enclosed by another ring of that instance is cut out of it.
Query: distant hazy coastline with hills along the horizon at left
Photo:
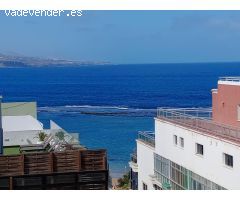
[[[0,67],[81,67],[108,65],[103,61],[72,61],[64,59],[44,59],[38,57],[12,56],[0,54]]]

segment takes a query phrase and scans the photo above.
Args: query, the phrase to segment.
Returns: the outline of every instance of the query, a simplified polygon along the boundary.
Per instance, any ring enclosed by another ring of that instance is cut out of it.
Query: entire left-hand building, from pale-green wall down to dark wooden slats
[[[106,150],[85,148],[53,121],[45,129],[36,103],[0,101],[0,141],[0,190],[108,189]]]

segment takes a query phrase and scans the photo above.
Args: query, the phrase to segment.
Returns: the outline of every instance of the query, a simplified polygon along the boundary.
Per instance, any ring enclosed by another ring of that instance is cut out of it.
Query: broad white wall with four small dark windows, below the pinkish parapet
[[[240,189],[239,146],[198,134],[160,119],[155,119],[155,134],[155,151],[157,154],[226,189]],[[173,135],[178,136],[178,146],[173,143]],[[184,138],[184,148],[180,147],[179,137]],[[204,146],[203,156],[195,154],[195,143]],[[233,156],[233,168],[225,166],[223,153]]]

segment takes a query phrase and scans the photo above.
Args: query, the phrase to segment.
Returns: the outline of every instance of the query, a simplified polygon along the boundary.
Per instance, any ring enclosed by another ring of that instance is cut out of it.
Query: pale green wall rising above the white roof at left
[[[37,118],[37,104],[36,102],[16,102],[2,104],[3,116],[21,116],[31,115]]]

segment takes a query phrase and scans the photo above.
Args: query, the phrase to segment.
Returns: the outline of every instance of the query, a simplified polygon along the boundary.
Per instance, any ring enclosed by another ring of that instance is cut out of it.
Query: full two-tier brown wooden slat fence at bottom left
[[[107,189],[106,150],[0,156],[0,189]]]

